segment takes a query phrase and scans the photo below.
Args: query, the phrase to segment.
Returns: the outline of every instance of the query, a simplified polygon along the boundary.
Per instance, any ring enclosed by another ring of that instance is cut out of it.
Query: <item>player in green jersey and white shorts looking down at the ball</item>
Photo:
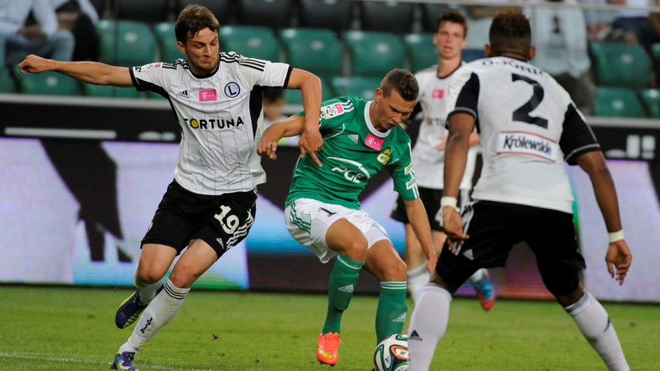
[[[322,262],[337,257],[316,353],[321,363],[337,363],[341,316],[362,267],[380,281],[377,341],[401,333],[406,321],[406,264],[385,229],[361,210],[358,201],[366,183],[380,169],[387,169],[394,189],[403,197],[410,225],[429,260],[429,272],[436,265],[429,219],[410,166],[410,137],[398,126],[413,112],[418,94],[415,76],[394,69],[375,90],[373,101],[337,97],[324,102],[320,118],[324,145],[316,153],[322,166],[305,156],[294,169],[285,209],[289,233]],[[275,159],[278,141],[303,131],[303,115],[269,127],[259,144],[259,155]]]

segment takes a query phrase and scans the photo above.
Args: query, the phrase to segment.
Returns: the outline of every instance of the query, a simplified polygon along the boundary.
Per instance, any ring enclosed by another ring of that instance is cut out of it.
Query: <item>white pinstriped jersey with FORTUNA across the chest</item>
[[[139,91],[166,97],[181,126],[174,178],[201,195],[252,190],[266,181],[256,146],[264,132],[261,87],[286,87],[291,67],[235,52],[220,53],[211,76],[195,76],[185,59],[131,69]]]

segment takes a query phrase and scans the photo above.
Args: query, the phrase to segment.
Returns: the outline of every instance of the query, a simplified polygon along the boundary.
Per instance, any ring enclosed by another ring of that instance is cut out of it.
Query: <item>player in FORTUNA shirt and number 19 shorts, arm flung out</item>
[[[174,181],[142,240],[134,279],[137,290],[115,316],[119,328],[139,319],[120,346],[113,369],[137,370],[135,353],[173,318],[192,283],[250,230],[256,187],[266,181],[256,151],[264,130],[263,87],[300,89],[308,113],[301,153],[317,161],[315,151],[323,143],[318,128],[319,78],[288,64],[220,52],[219,27],[210,10],[191,5],[181,11],[175,25],[177,45],[186,59],[126,68],[29,55],[18,66],[22,73],[56,71],[85,83],[157,92],[168,99],[181,126]]]

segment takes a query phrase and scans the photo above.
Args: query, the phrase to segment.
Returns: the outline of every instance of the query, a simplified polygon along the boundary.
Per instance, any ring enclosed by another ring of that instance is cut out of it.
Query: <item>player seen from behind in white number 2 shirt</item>
[[[564,164],[579,165],[594,183],[609,231],[607,269],[623,284],[632,255],[598,141],[566,90],[526,62],[536,50],[520,8],[500,8],[489,38],[489,58],[459,69],[450,85],[441,202],[447,243],[410,321],[408,370],[429,369],[447,328],[452,293],[476,269],[503,266],[519,241],[530,246],[547,290],[607,367],[629,370],[608,313],[580,282],[585,264],[576,242],[573,196]],[[474,202],[461,219],[456,197],[475,126],[484,167]]]

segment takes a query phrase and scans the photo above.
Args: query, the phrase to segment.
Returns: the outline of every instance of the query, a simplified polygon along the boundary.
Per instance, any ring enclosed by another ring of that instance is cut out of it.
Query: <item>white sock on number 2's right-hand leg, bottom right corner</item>
[[[610,370],[630,370],[610,316],[595,297],[584,293],[582,299],[564,309],[573,317],[582,335],[596,349]]]

